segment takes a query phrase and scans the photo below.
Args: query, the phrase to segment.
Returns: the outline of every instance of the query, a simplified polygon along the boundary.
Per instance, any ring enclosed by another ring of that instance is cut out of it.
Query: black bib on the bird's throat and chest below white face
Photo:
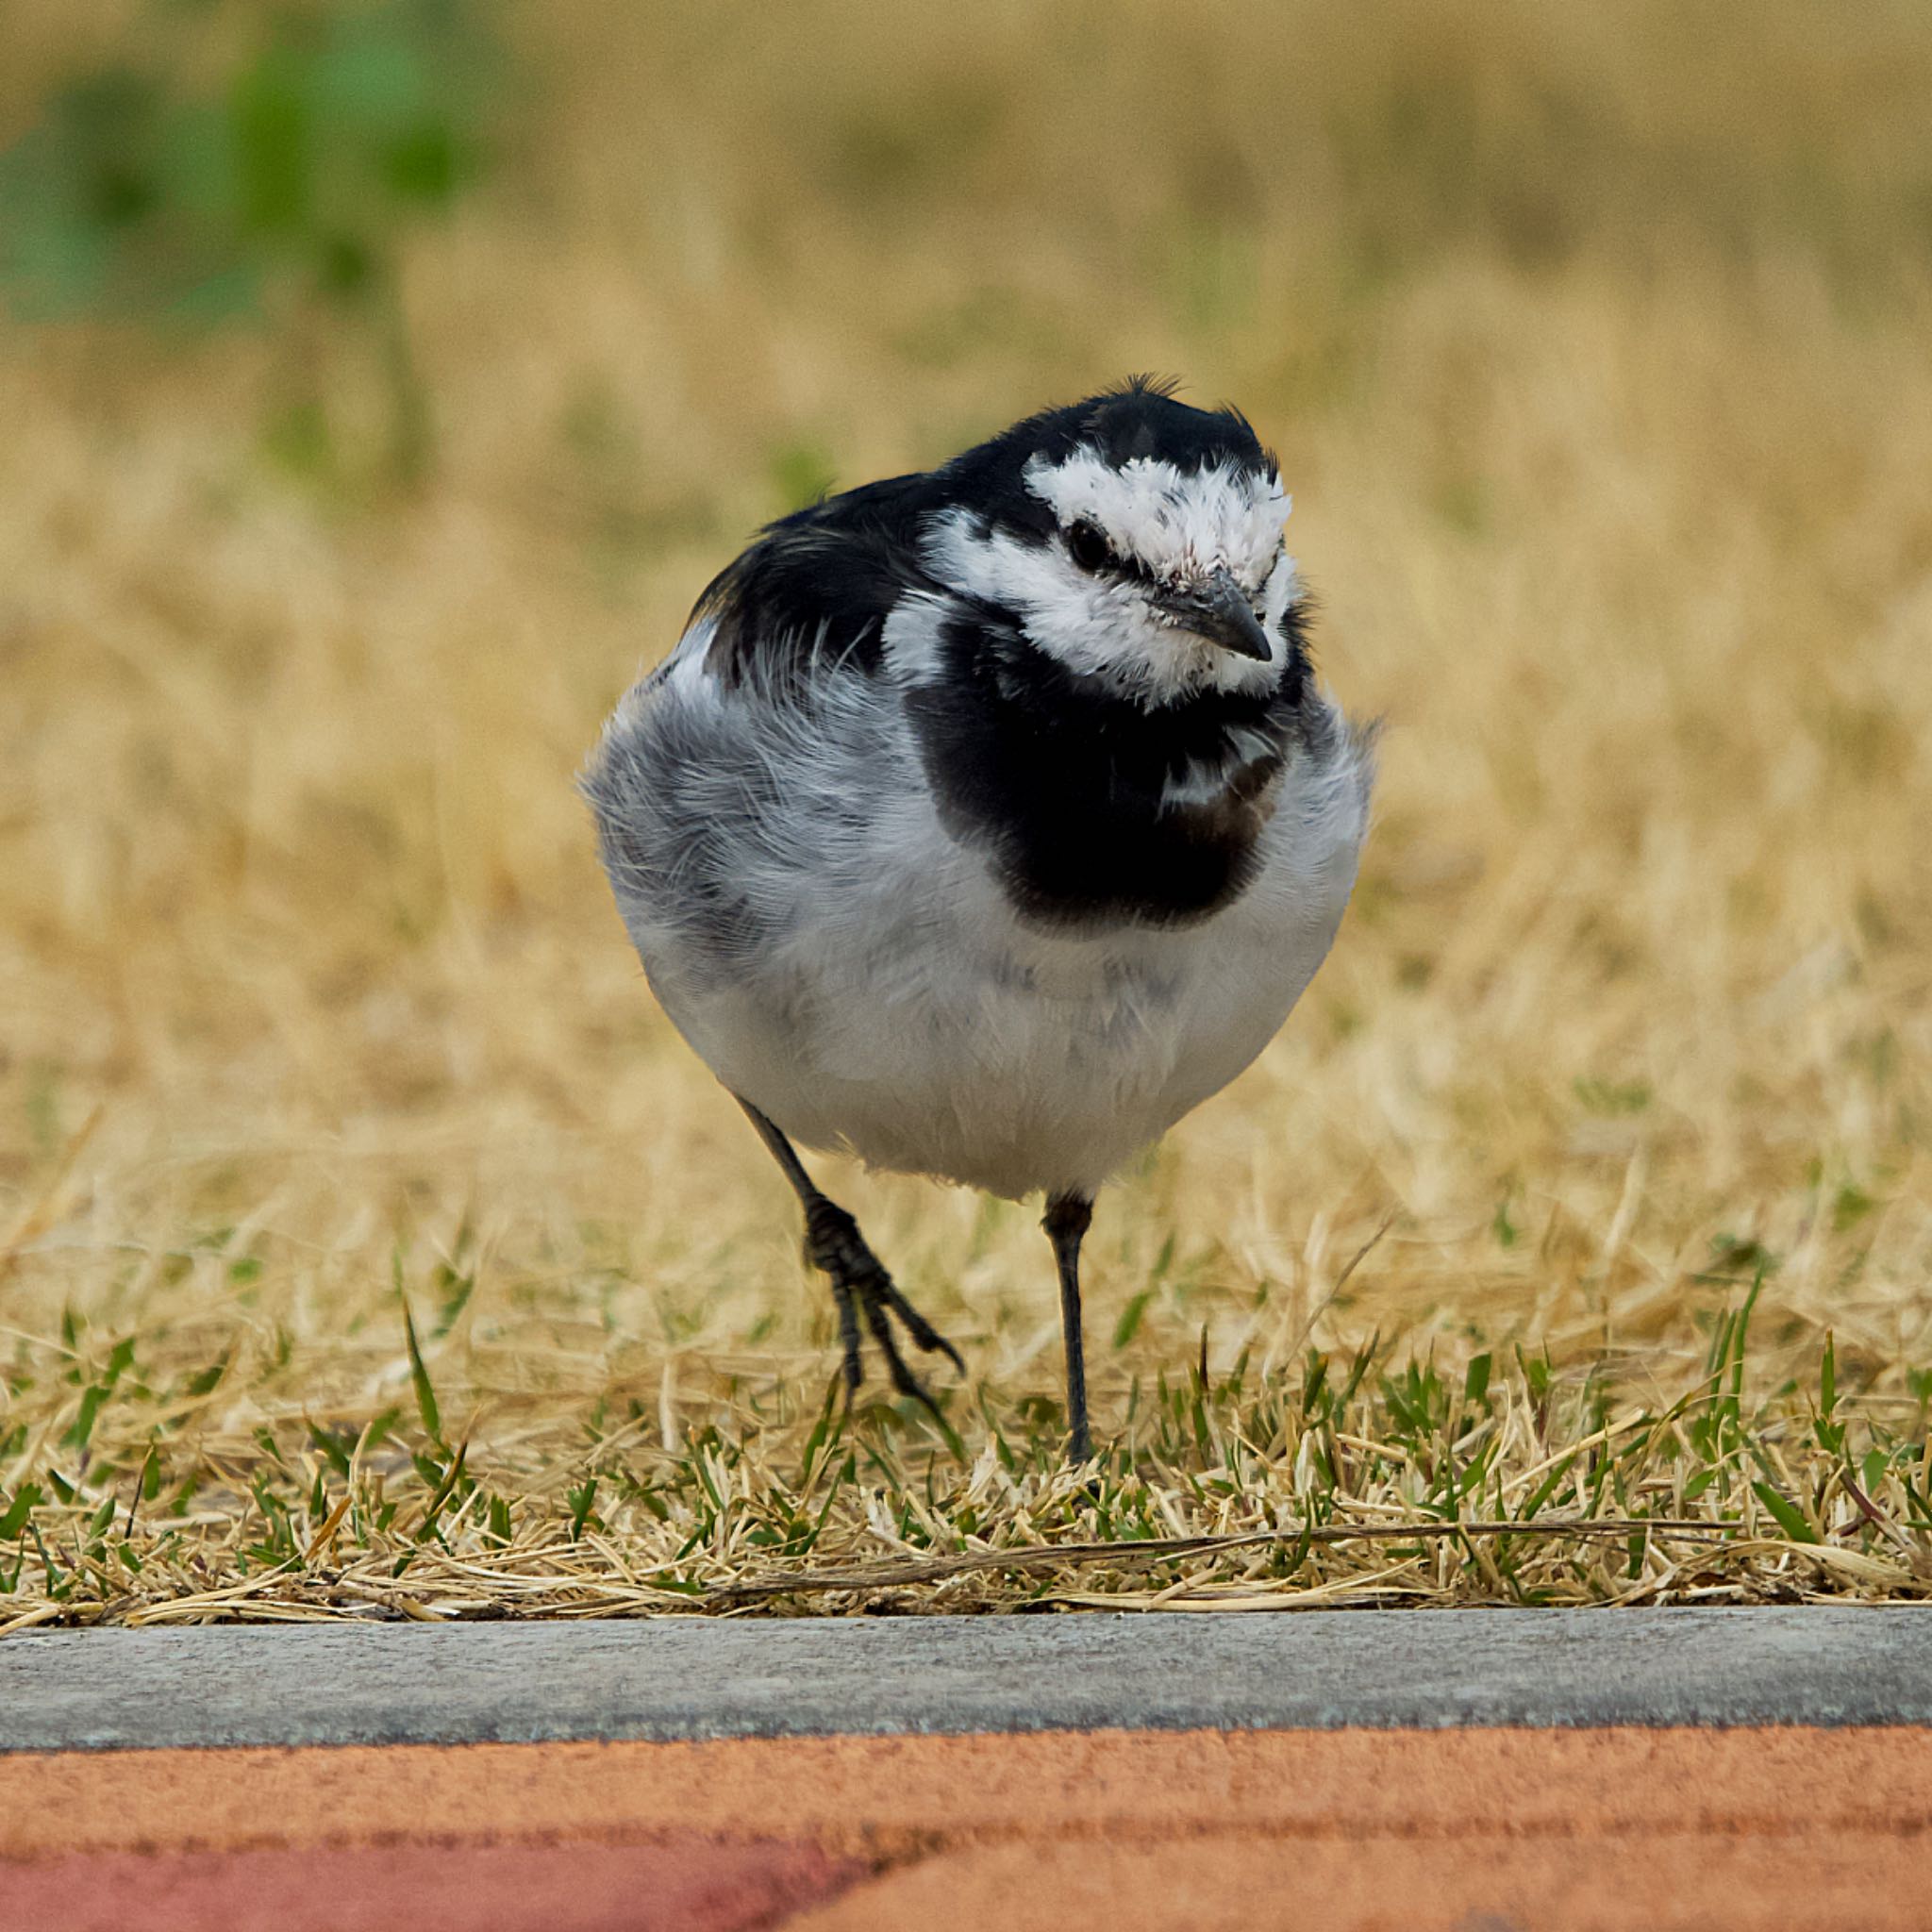
[[[945,678],[906,709],[947,829],[1028,920],[1180,925],[1248,885],[1289,757],[1300,667],[1262,694],[1146,709],[980,616],[941,628]],[[1163,794],[1225,773],[1200,802]]]

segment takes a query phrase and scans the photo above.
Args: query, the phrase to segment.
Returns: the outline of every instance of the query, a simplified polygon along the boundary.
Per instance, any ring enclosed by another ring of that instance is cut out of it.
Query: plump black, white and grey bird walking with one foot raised
[[[1095,1194],[1287,1020],[1368,829],[1289,510],[1233,406],[1041,410],[769,524],[583,767],[651,991],[798,1194],[848,1406],[862,1321],[941,1422],[895,1325],[964,1362],[800,1146],[1043,1198],[1092,1457]]]

